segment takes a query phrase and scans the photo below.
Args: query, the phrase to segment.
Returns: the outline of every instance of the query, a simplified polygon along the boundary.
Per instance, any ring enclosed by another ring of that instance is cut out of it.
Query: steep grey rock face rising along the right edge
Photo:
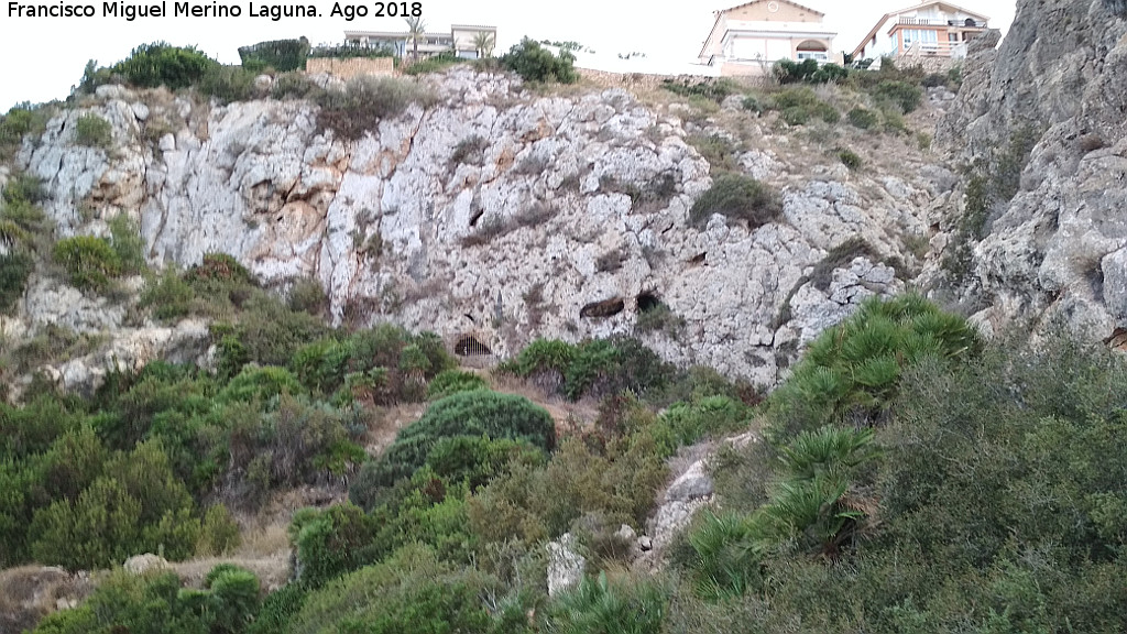
[[[990,305],[978,319],[1032,317],[1107,337],[1127,324],[1127,10],[1020,0],[996,43],[976,41],[937,134],[992,174],[1020,160],[1017,194],[987,210],[973,245],[969,292]],[[1021,143],[1028,159],[1013,151]]]

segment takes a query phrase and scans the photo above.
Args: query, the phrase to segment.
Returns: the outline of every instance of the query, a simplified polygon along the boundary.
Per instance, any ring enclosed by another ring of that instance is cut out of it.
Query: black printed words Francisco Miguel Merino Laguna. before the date
[[[332,12],[339,9],[334,6]],[[332,12],[327,15],[331,16]],[[340,12],[340,15],[344,15]],[[321,14],[313,5],[264,3],[248,2],[223,5],[220,2],[169,2],[161,0],[151,3],[103,2],[83,5],[71,2],[54,2],[43,5],[25,5],[8,2],[9,18],[123,18],[133,21],[137,18],[269,18],[277,21],[282,18],[317,18]]]

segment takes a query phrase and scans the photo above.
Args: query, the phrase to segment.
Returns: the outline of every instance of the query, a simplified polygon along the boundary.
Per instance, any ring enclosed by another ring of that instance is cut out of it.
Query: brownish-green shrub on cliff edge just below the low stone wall
[[[344,90],[317,95],[320,130],[331,130],[343,139],[362,139],[380,121],[399,116],[412,103],[428,105],[432,97],[414,82],[394,78],[357,77]]]

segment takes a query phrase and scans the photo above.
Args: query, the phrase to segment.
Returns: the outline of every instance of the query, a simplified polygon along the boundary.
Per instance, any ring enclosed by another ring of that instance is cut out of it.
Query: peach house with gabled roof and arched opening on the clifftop
[[[780,60],[836,61],[825,15],[789,0],[755,0],[716,12],[699,55],[721,76],[763,74]]]

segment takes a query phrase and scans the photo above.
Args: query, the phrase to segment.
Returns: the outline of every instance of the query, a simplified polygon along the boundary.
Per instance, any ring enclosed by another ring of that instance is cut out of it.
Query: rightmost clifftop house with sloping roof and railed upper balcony
[[[986,30],[988,21],[950,2],[923,2],[881,16],[853,50],[853,59],[965,58],[967,42]]]

